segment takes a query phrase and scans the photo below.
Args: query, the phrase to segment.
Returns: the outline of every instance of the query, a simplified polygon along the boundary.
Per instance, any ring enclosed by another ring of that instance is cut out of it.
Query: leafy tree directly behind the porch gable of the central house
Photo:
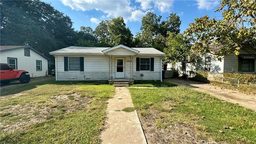
[[[132,32],[129,28],[126,28],[124,18],[121,16],[108,20],[108,31],[111,46],[118,44],[132,46]]]

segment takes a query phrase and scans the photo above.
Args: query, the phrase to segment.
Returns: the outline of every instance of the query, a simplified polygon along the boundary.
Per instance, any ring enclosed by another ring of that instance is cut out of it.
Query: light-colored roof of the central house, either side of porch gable
[[[60,50],[55,50],[50,52],[54,55],[68,55],[68,54],[88,54],[88,55],[104,55],[102,51],[109,49],[111,47],[80,47],[80,46],[69,46],[67,48],[62,48]],[[139,51],[138,55],[165,55],[163,52],[156,50],[155,48],[132,48]]]

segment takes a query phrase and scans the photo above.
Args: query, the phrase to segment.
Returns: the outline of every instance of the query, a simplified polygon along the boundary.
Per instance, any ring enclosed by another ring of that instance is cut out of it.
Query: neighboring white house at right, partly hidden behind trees
[[[247,48],[247,50],[254,52],[253,48]],[[229,54],[225,57],[221,57],[221,61],[215,58],[214,54],[204,54],[200,57],[200,61],[196,66],[186,65],[186,70],[198,70],[198,71],[210,71],[210,72],[236,72],[244,74],[256,73],[256,60],[247,52],[240,50],[240,54]],[[176,63],[175,66],[169,64],[168,68],[175,67],[178,70],[184,70],[184,64]]]

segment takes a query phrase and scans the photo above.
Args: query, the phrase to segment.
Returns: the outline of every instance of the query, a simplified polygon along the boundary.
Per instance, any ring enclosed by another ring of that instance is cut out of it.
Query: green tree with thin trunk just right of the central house
[[[166,41],[167,48],[164,49],[166,56],[164,61],[168,63],[181,62],[185,64],[196,64],[198,61],[198,54],[191,49],[191,40],[183,34],[175,34],[174,32],[167,32],[168,37]]]

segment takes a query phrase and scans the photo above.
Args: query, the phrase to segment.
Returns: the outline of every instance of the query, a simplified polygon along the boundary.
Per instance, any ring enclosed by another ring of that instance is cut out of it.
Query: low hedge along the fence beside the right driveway
[[[210,78],[209,78],[210,77]],[[201,82],[230,82],[234,84],[256,84],[256,74],[231,74],[196,71],[191,79]],[[209,80],[210,79],[210,80]]]

